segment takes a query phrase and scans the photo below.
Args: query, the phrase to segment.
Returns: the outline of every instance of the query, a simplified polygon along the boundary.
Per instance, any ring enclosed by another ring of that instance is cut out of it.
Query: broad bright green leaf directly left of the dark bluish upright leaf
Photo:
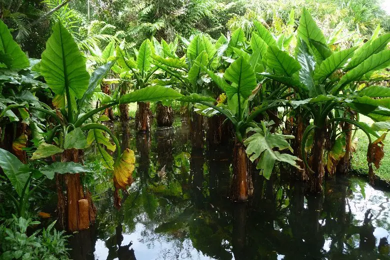
[[[274,74],[292,76],[301,68],[298,61],[277,46],[268,46],[266,57],[267,65]]]

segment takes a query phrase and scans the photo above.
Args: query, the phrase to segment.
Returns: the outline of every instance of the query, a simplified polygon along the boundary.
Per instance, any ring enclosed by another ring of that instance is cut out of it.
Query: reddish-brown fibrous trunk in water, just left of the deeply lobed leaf
[[[233,149],[233,178],[230,185],[230,198],[233,201],[246,201],[253,193],[250,162],[245,146],[236,141]]]

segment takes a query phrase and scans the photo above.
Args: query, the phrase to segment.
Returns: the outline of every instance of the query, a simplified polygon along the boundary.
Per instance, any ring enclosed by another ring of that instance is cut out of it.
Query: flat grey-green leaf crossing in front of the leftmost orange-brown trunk
[[[54,173],[81,173],[81,172],[91,172],[91,170],[80,163],[67,161],[67,162],[53,162],[50,165],[43,166],[39,168],[40,172],[44,174],[47,178],[53,179]]]

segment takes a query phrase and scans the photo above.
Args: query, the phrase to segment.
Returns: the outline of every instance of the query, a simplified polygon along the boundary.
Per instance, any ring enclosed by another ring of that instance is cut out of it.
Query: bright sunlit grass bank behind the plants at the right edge
[[[368,117],[361,116],[360,121],[364,121],[368,124],[372,123],[372,120]],[[374,167],[374,172],[380,178],[390,181],[390,136],[387,136],[384,139],[384,157],[381,160],[379,169]],[[352,169],[360,171],[362,173],[368,173],[367,166],[367,146],[368,146],[368,138],[364,134],[362,130],[358,130],[356,132],[355,138],[357,138],[357,147],[356,152],[353,153],[353,158],[351,161]]]

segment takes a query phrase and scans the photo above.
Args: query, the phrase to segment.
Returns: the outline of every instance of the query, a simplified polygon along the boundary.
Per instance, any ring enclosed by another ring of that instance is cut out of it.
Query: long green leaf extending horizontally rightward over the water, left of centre
[[[119,98],[120,103],[131,103],[131,102],[146,102],[146,101],[158,101],[158,100],[174,100],[181,97],[182,94],[176,90],[155,85],[147,86],[141,89],[137,89],[131,93],[124,94]]]

